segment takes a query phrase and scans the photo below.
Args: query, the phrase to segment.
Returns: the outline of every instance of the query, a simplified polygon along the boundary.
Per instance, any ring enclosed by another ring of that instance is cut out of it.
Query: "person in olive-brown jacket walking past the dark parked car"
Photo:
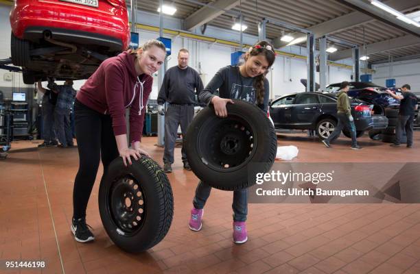
[[[349,82],[342,82],[340,84],[340,92],[337,96],[338,123],[334,132],[328,136],[328,138],[323,140],[325,147],[331,147],[329,142],[340,136],[342,129],[346,127],[351,134],[351,149],[362,149],[362,147],[359,147],[358,141],[356,140],[355,125],[353,122],[353,116],[351,116],[349,96],[347,96],[349,88]]]

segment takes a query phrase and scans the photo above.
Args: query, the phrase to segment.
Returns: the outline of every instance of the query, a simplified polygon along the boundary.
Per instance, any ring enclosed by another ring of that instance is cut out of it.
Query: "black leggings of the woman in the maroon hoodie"
[[[86,216],[100,160],[104,173],[110,162],[119,156],[110,115],[100,114],[77,99],[74,103],[75,135],[79,149],[79,171],[73,188],[73,217]]]

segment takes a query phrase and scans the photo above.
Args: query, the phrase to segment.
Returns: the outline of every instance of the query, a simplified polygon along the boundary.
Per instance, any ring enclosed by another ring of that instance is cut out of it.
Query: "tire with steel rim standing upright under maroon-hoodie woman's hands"
[[[169,231],[174,197],[165,173],[152,159],[142,155],[126,167],[119,157],[102,177],[99,208],[115,245],[137,253],[159,243]]]

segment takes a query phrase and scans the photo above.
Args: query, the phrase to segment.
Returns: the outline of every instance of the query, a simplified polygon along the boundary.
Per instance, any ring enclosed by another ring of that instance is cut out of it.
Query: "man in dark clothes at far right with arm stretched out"
[[[410,85],[405,84],[401,88],[401,95],[395,95],[390,90],[387,90],[390,96],[401,101],[399,103],[397,127],[395,127],[395,140],[394,143],[390,145],[391,147],[399,147],[401,143],[401,135],[404,132],[404,129],[406,129],[407,147],[412,148],[412,127],[415,110],[417,110],[417,97],[412,92],[410,92],[410,89]]]

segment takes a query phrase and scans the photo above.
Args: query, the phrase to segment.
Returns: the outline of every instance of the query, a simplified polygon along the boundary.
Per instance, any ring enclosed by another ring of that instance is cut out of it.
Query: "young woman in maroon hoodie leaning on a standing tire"
[[[74,103],[75,134],[80,165],[73,188],[71,231],[78,242],[94,239],[86,225],[86,207],[100,160],[104,172],[110,162],[121,157],[131,164],[141,154],[140,147],[145,105],[152,91],[152,73],[165,60],[165,45],[149,40],[137,50],[108,58],[84,83]],[[126,108],[130,108],[131,148],[127,143]]]

